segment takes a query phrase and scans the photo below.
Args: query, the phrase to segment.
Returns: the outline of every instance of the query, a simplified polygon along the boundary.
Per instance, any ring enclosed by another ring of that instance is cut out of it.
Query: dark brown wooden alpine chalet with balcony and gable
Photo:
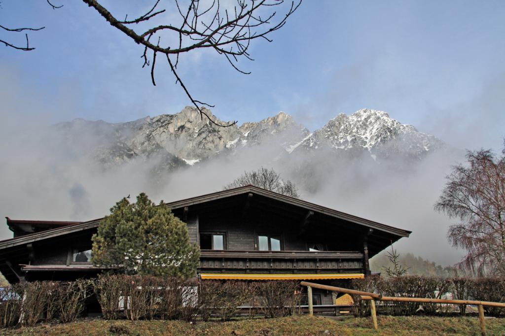
[[[410,231],[244,186],[168,203],[201,249],[205,279],[310,280],[336,284],[370,274],[369,258]],[[0,241],[0,271],[10,283],[93,277],[85,222],[13,220],[14,238]],[[315,304],[332,304],[314,292]]]

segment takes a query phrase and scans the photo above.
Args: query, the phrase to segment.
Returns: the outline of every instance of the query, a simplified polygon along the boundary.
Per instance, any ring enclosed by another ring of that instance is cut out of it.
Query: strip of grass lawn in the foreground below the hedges
[[[487,318],[489,335],[505,334],[505,319]],[[477,317],[379,316],[379,331],[370,318],[335,321],[295,316],[230,322],[79,320],[67,324],[0,329],[3,335],[480,335]]]

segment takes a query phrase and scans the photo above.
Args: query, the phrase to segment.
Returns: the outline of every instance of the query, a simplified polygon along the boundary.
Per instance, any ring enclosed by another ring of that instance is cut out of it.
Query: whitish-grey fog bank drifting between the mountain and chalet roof
[[[461,257],[446,241],[450,221],[433,210],[450,166],[464,160],[461,150],[438,150],[421,161],[390,157],[378,162],[367,152],[288,155],[278,143],[267,141],[170,174],[154,173],[156,159],[104,167],[93,160],[92,148],[106,145],[106,136],[63,138],[55,132],[55,123],[71,120],[78,110],[71,96],[44,104],[43,96],[6,74],[0,79],[2,216],[89,220],[106,215],[129,194],[146,192],[155,202],[177,200],[221,190],[244,171],[265,166],[293,181],[302,199],[413,231],[395,244],[399,251],[443,265]],[[11,237],[1,225],[0,238]]]

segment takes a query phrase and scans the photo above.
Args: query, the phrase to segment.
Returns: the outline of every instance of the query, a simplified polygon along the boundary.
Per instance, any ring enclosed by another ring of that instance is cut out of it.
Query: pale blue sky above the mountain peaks
[[[154,87],[149,70],[141,68],[142,48],[93,9],[80,1],[53,3],[64,7],[53,10],[41,0],[1,4],[2,25],[46,27],[30,34],[35,50],[0,51],[0,85],[25,93],[32,108],[24,116],[41,113],[40,106],[52,112],[48,123],[124,122],[190,104],[164,63]],[[150,4],[101,3],[120,18],[142,14]],[[338,113],[368,107],[457,147],[499,150],[505,135],[504,15],[503,1],[306,0],[271,35],[272,43],[254,42],[254,62],[239,62],[251,75],[208,51],[184,55],[179,71],[222,120],[241,124],[284,110],[314,130]],[[22,34],[0,33],[0,39],[23,42]],[[13,111],[4,107],[0,114]]]

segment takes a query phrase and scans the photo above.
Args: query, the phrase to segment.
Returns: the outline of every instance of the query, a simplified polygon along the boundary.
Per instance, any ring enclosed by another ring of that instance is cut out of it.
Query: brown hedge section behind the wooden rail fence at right
[[[364,279],[355,279],[351,282],[352,289],[380,293],[383,296],[416,297],[442,299],[442,296],[450,293],[456,300],[478,301],[505,301],[505,279],[499,277],[483,278],[441,278],[435,276],[405,275],[390,277],[387,279],[379,276],[369,276]],[[359,296],[353,296],[353,313],[357,316],[370,314],[369,303],[361,300]],[[420,307],[425,314],[447,313],[454,305],[437,303],[415,302],[390,302],[383,301],[381,308],[387,314],[414,315]],[[461,314],[465,314],[466,305],[458,305]],[[486,313],[498,316],[503,309],[496,307],[484,307]]]

